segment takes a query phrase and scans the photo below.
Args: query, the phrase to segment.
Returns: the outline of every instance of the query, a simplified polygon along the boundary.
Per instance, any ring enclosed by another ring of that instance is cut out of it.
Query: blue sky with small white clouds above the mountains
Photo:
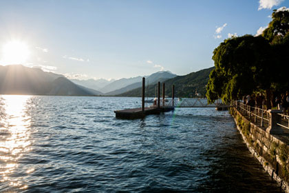
[[[20,42],[29,54],[17,62],[69,78],[189,74],[212,67],[224,39],[261,33],[281,7],[289,0],[0,0],[0,65]]]

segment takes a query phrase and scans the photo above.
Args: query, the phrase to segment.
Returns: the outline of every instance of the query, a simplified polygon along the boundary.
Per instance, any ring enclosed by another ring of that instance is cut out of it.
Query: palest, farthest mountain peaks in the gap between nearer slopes
[[[72,81],[73,83],[76,83],[78,85],[85,86],[87,88],[92,88],[94,90],[101,90],[106,85],[108,85],[109,83],[112,83],[115,80],[113,79],[111,81],[107,81],[106,79],[97,79],[97,80],[94,80],[94,79],[88,79],[88,80],[70,79],[70,81]]]

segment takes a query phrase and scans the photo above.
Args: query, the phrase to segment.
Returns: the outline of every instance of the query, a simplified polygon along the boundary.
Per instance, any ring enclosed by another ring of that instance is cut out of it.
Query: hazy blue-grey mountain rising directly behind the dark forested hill
[[[146,77],[146,84],[155,84],[158,81],[166,81],[167,79],[172,79],[173,77],[176,77],[176,74],[172,74],[171,72],[168,71],[160,71],[160,72],[156,72],[151,74],[149,77]],[[118,90],[114,90],[111,92],[107,92],[105,93],[105,95],[118,95],[118,94],[122,94],[124,92],[129,92],[130,90],[133,90],[135,88],[139,88],[142,86],[142,77],[140,79],[140,81],[136,82],[136,83],[132,83],[130,85],[125,86],[124,88],[120,88]]]

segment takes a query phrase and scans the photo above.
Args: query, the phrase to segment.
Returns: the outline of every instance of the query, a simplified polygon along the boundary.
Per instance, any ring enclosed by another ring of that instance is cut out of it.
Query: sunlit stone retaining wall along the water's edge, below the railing
[[[289,192],[289,145],[278,139],[278,136],[251,123],[236,108],[231,108],[231,114],[250,152],[272,179],[275,179],[285,192]]]

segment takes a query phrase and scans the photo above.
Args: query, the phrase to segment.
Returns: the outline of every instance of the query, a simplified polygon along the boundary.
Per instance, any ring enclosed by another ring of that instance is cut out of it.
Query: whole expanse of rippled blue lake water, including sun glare
[[[140,99],[0,97],[0,192],[280,192],[228,112],[144,120]]]

